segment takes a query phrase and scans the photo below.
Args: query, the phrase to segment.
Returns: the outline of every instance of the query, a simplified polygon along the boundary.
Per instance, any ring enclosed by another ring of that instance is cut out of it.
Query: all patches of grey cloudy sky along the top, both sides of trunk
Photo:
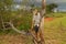
[[[20,3],[22,0],[15,0],[18,3]],[[42,0],[31,0],[31,3],[35,3],[37,6],[41,6]],[[64,9],[66,10],[66,0],[46,0],[46,3],[57,3],[58,9]]]

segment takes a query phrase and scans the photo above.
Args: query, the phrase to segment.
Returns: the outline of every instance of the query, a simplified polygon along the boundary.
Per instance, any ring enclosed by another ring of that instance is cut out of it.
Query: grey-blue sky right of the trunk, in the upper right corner
[[[57,3],[59,10],[66,10],[66,0],[46,0],[46,3]]]

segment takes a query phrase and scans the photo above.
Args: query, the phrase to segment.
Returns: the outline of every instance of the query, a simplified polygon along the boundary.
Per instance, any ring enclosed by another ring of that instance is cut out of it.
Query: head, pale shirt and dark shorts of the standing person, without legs
[[[37,35],[37,32],[40,30],[40,22],[41,22],[41,14],[40,12],[35,9],[33,11],[33,30],[35,31],[35,34]]]

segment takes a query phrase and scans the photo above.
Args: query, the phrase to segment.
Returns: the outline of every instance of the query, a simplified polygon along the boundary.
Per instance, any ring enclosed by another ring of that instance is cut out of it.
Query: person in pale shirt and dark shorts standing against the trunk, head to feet
[[[38,43],[41,41],[40,38],[40,23],[41,23],[41,14],[40,12],[35,9],[33,11],[33,20],[32,20],[32,29],[33,31],[35,32],[34,35],[35,35],[35,38],[36,38],[36,42]],[[35,42],[35,41],[34,41]],[[35,44],[36,44],[35,42]]]

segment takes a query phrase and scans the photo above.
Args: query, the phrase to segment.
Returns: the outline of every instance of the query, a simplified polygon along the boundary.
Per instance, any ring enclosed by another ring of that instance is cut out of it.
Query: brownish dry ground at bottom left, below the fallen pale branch
[[[0,44],[32,44],[31,38],[28,36],[23,37],[21,34],[18,35],[0,35]]]

